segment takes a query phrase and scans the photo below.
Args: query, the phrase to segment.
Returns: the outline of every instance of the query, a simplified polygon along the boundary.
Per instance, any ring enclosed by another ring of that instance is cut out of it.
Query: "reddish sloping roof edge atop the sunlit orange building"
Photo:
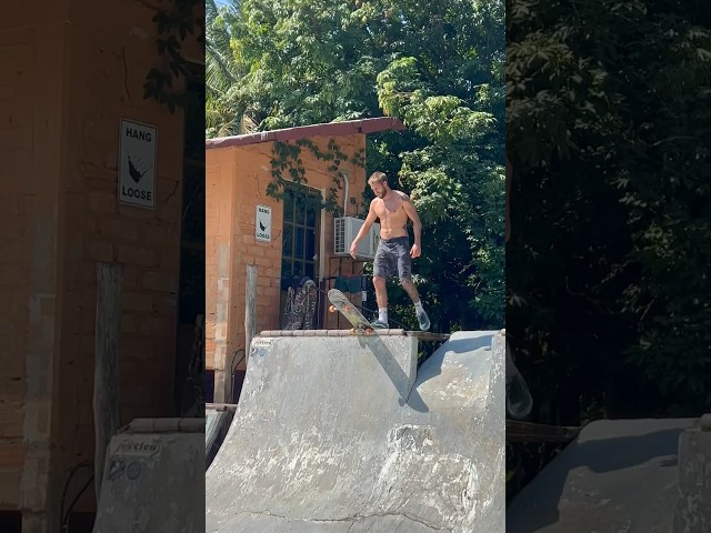
[[[296,128],[286,128],[283,130],[260,131],[258,133],[248,133],[244,135],[207,139],[204,141],[204,148],[206,150],[210,150],[213,148],[243,147],[246,144],[254,144],[258,142],[268,141],[294,141],[298,139],[308,139],[311,137],[353,135],[358,133],[368,134],[385,130],[401,131],[407,130],[407,128],[398,119],[391,117],[378,117],[375,119],[299,125]]]

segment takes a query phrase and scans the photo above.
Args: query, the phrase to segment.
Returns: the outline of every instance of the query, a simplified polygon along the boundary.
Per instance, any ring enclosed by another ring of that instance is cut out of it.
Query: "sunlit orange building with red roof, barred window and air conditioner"
[[[256,333],[284,326],[289,286],[299,286],[304,278],[318,288],[310,329],[348,326],[338,313],[328,312],[324,294],[337,279],[362,273],[374,254],[375,224],[356,260],[348,249],[367,210],[365,135],[384,130],[404,125],[397,119],[375,118],[206,141],[208,401],[233,403],[239,395],[247,362],[248,265],[257,270]],[[284,145],[301,145],[300,165],[286,163],[293,158],[280,154]],[[343,161],[338,170],[329,169],[333,160],[323,154],[337,151]],[[291,168],[303,171],[301,183],[294,183]],[[280,189],[281,200],[268,194],[276,182],[273,172],[287,182]],[[331,199],[336,210],[313,208],[310,199],[326,201],[330,192],[336,193]],[[360,290],[348,294],[361,303]]]

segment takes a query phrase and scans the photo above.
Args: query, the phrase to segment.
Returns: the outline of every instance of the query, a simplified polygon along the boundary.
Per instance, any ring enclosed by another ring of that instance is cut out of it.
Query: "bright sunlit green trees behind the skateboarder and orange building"
[[[398,117],[408,131],[369,135],[365,170],[423,219],[415,272],[434,325],[502,326],[503,3],[242,0],[210,13],[208,114],[222,122],[208,135]]]

